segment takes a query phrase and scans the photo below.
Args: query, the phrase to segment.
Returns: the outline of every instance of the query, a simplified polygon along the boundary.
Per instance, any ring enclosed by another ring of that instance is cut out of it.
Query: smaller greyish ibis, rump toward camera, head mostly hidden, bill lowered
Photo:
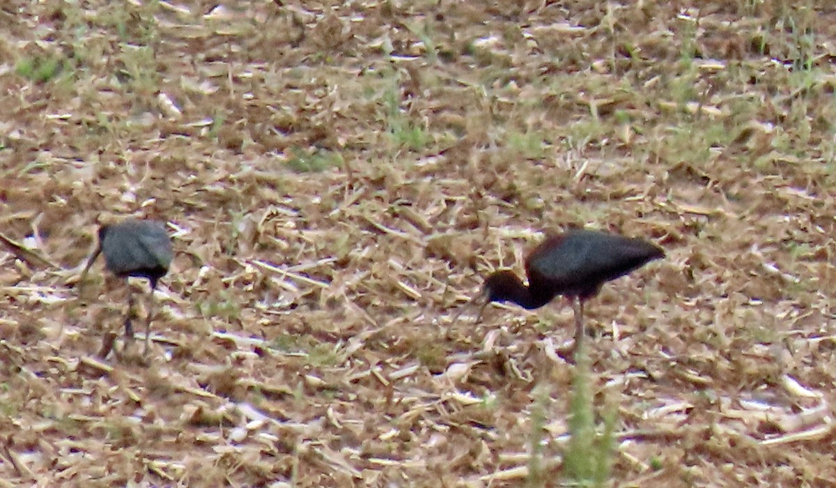
[[[148,321],[145,324],[145,351],[148,350],[150,322],[153,316],[154,290],[159,281],[168,272],[174,254],[171,250],[171,238],[166,232],[166,224],[157,220],[137,220],[130,218],[120,223],[99,227],[99,246],[90,256],[80,283],[99,254],[104,254],[104,267],[120,278],[145,278],[150,283],[150,306]],[[128,287],[128,313],[125,316],[125,336],[133,338],[134,331],[130,324],[134,308],[134,295]]]

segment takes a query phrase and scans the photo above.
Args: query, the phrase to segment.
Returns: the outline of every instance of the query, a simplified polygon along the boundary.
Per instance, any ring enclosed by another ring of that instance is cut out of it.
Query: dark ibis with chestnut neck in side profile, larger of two
[[[573,305],[573,349],[577,352],[584,336],[584,302],[598,295],[607,281],[663,257],[665,251],[644,239],[591,229],[549,234],[525,259],[528,286],[511,270],[499,270],[487,277],[482,293],[486,301],[477,321],[493,301],[511,301],[535,309],[563,295]]]

